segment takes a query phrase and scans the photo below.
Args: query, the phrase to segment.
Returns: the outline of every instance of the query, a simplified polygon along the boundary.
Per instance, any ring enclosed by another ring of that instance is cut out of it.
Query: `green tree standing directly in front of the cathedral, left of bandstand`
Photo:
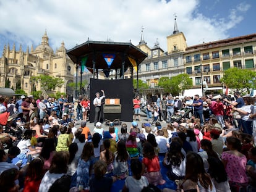
[[[32,80],[40,81],[41,90],[45,91],[47,94],[49,91],[53,91],[56,87],[61,87],[64,80],[58,77],[51,77],[48,75],[40,75],[36,77],[31,77]]]

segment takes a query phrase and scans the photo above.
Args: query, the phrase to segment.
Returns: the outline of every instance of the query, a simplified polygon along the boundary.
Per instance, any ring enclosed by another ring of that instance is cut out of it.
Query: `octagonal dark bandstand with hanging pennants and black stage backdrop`
[[[147,57],[147,54],[132,43],[118,43],[113,41],[86,41],[67,51],[67,55],[74,62],[77,74],[80,70],[80,82],[82,73],[86,68],[93,74],[90,79],[90,122],[94,122],[95,107],[93,99],[95,93],[105,91],[106,98],[101,104],[101,122],[104,120],[119,119],[131,122],[133,119],[134,96],[133,73],[137,73],[139,64]],[[130,69],[131,78],[124,78],[124,73]],[[105,74],[105,80],[99,80],[99,73]],[[109,73],[114,72],[115,77],[109,78]],[[78,79],[76,78],[75,96],[79,93]],[[137,73],[137,90],[139,85]],[[80,83],[80,93],[82,83]],[[105,101],[105,102],[104,102]],[[112,107],[112,108],[111,108]],[[105,112],[104,112],[105,111]]]

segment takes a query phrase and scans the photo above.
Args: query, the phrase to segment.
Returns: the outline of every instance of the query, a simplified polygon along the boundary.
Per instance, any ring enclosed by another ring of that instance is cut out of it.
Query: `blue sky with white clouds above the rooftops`
[[[256,33],[254,0],[0,0],[0,54],[4,44],[36,48],[45,30],[55,51],[89,38],[137,45],[143,35],[150,48],[156,40],[166,51],[174,14],[187,45]]]

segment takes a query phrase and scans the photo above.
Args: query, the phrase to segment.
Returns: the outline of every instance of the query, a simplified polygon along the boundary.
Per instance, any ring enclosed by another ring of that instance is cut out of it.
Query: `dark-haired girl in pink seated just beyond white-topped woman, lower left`
[[[43,144],[43,148],[41,150],[40,156],[45,159],[45,164],[43,166],[44,170],[48,170],[51,166],[51,161],[53,160],[53,156],[55,153],[55,142],[54,139],[48,138],[45,140]]]

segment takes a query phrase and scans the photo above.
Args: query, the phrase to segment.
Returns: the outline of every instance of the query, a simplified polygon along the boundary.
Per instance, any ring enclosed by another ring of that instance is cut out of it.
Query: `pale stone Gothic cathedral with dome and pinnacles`
[[[67,86],[74,81],[74,63],[66,54],[64,42],[54,53],[49,46],[49,38],[45,31],[42,41],[35,49],[33,45],[31,50],[22,50],[20,45],[19,51],[15,49],[15,44],[10,49],[9,44],[4,46],[2,57],[0,58],[0,87],[5,87],[6,81],[9,81],[9,87],[14,90],[20,88],[27,94],[33,91],[41,90],[40,81],[36,82],[33,76],[49,75],[64,80],[61,88],[56,88],[54,92],[73,94],[74,90]]]

